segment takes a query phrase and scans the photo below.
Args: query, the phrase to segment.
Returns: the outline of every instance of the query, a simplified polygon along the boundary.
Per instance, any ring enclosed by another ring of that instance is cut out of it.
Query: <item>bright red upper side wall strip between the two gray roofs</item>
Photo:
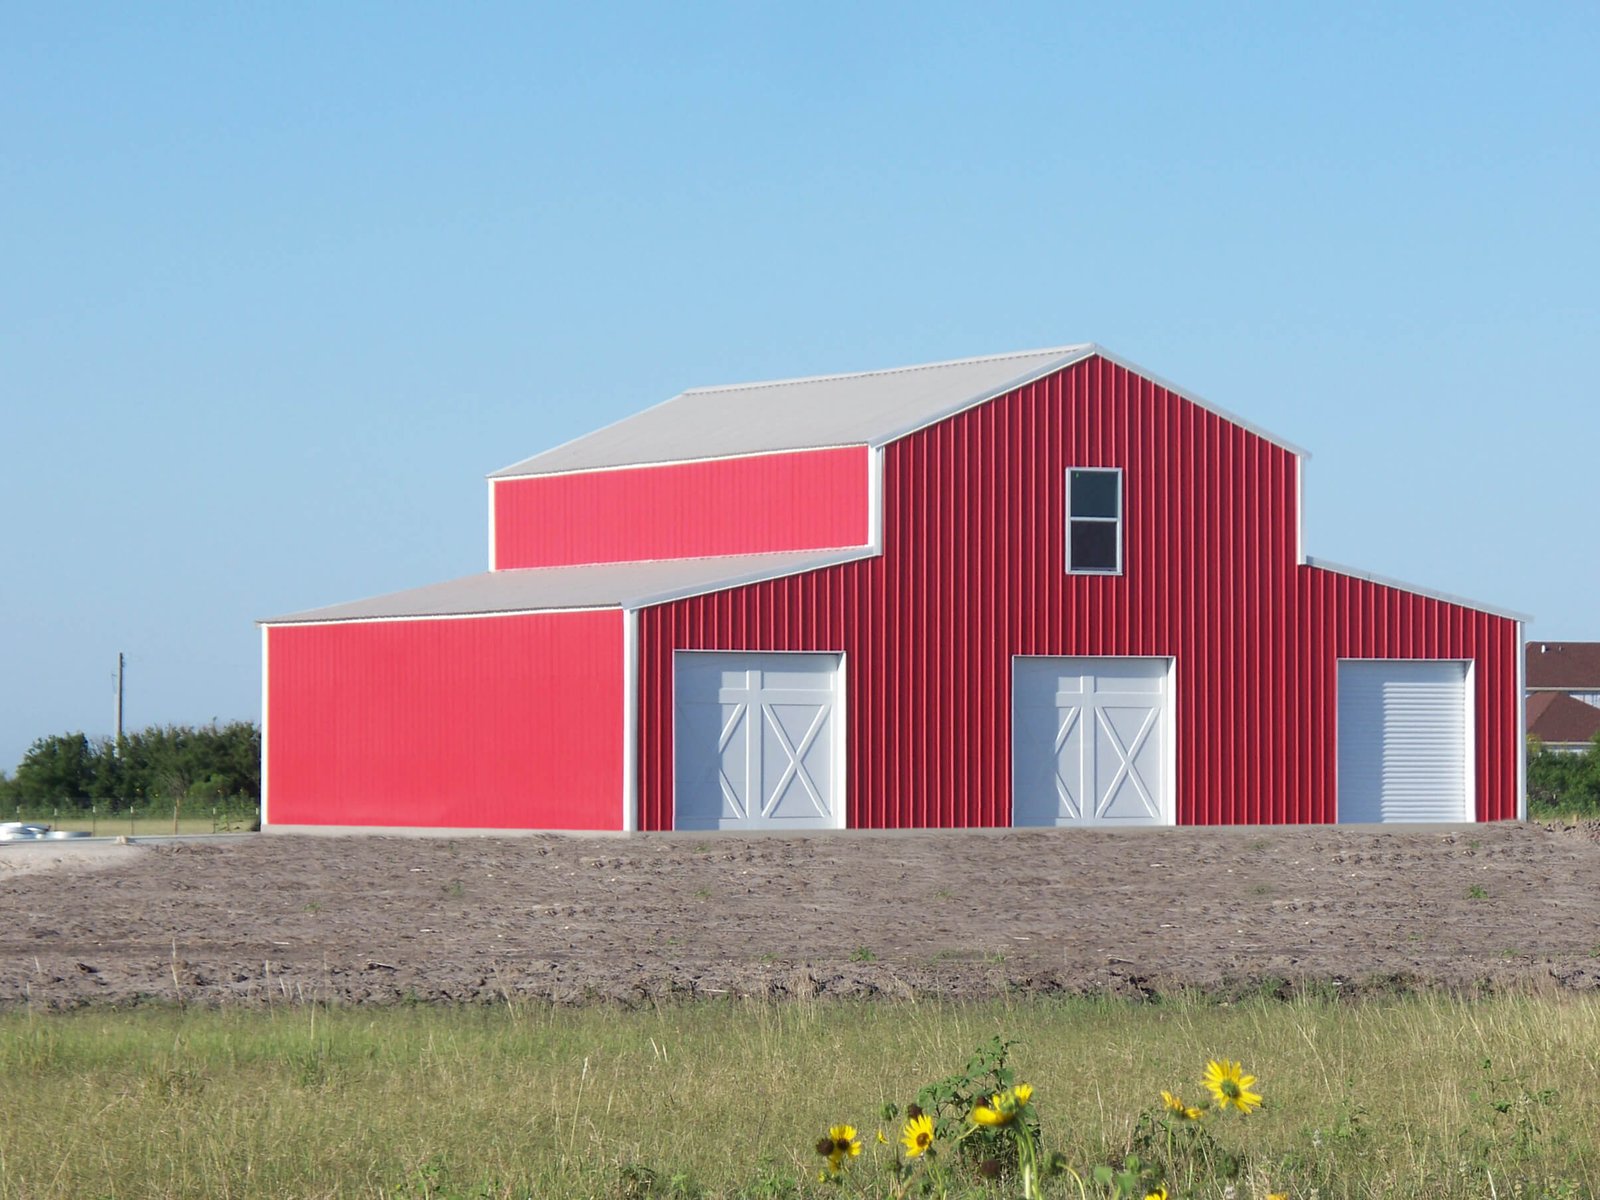
[[[701,558],[867,542],[867,448],[494,483],[494,566]]]

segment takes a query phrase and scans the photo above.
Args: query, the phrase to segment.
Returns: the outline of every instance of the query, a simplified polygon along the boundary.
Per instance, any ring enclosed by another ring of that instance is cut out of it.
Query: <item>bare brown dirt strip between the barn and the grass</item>
[[[1600,987],[1600,824],[0,845],[0,1006]]]

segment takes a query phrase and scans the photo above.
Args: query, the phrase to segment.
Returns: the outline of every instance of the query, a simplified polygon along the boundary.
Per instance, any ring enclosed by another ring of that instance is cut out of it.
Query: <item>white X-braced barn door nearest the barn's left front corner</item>
[[[674,654],[674,829],[843,829],[838,654]]]

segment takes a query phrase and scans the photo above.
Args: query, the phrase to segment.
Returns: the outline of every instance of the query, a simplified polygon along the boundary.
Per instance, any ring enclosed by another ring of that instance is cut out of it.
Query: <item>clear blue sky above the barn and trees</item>
[[[0,768],[259,715],[683,387],[1075,341],[1312,555],[1600,640],[1600,10],[0,8]]]

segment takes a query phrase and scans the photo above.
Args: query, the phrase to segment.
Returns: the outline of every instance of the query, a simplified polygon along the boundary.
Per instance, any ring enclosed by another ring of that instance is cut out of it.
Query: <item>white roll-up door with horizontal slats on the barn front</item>
[[[1470,821],[1467,664],[1339,662],[1339,822]]]

